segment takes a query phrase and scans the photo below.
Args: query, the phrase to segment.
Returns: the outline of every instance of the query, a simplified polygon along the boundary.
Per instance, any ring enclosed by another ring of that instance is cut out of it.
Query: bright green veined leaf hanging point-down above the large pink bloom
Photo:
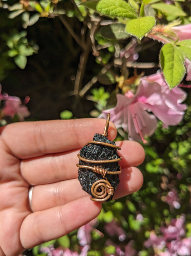
[[[165,44],[161,48],[159,57],[164,78],[169,89],[172,89],[180,84],[185,74],[183,53],[175,45]]]

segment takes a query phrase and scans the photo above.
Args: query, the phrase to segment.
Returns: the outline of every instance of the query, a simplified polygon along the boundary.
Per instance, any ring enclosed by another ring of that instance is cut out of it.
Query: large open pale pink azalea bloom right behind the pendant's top
[[[128,91],[116,97],[116,106],[102,111],[99,117],[106,118],[110,113],[110,120],[117,128],[122,127],[127,131],[129,139],[143,140],[144,143],[144,136],[154,133],[157,118],[164,127],[177,125],[186,109],[186,104],[181,104],[186,93],[179,87],[169,90],[160,72],[142,77],[135,95]]]

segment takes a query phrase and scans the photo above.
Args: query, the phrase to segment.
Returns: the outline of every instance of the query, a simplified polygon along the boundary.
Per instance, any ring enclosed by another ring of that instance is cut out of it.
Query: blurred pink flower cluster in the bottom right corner
[[[157,237],[151,232],[150,238],[145,242],[145,247],[157,249],[159,256],[190,256],[191,237],[185,238],[185,216],[172,219],[171,224],[162,227],[162,235]]]

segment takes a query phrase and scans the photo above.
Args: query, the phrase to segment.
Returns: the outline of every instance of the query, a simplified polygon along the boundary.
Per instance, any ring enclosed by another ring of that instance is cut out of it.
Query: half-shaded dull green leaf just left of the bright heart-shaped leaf
[[[125,24],[121,23],[113,23],[103,26],[99,32],[102,37],[115,40],[124,39],[130,36],[125,30]]]

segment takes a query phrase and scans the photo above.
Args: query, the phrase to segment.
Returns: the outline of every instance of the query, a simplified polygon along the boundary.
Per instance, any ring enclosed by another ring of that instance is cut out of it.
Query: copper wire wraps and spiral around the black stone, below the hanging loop
[[[115,148],[115,149],[118,149],[118,150],[121,149],[120,147],[118,147],[116,145],[106,143],[106,142],[97,142],[97,141],[88,142],[84,146],[87,146],[87,145],[90,145],[90,144],[103,145],[103,146]],[[114,163],[114,162],[119,162],[119,161],[122,160],[122,157],[119,157],[117,159],[110,159],[110,160],[90,160],[90,159],[86,159],[86,158],[80,156],[80,154],[78,154],[77,156],[83,162],[94,163],[94,164]],[[107,171],[106,169],[97,167],[96,165],[94,165],[94,167],[93,167],[93,166],[89,166],[89,165],[77,164],[76,166],[79,167],[79,168],[92,170],[95,173],[102,175],[103,178],[105,178],[105,179],[97,180],[93,183],[93,185],[91,187],[91,193],[95,198],[91,198],[91,200],[102,202],[102,201],[107,201],[111,196],[113,196],[114,188],[111,186],[111,184],[109,183],[109,181],[107,180],[105,175],[106,174],[112,174],[112,175],[120,174],[121,173],[121,167],[119,167],[119,171]]]

